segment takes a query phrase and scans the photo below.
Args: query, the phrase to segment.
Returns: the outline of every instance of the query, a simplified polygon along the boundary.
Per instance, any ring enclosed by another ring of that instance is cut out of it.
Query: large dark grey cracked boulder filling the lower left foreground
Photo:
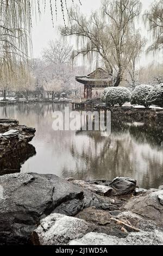
[[[30,234],[52,212],[74,216],[89,206],[118,209],[114,200],[83,190],[55,175],[16,173],[0,176],[0,243],[29,242]]]

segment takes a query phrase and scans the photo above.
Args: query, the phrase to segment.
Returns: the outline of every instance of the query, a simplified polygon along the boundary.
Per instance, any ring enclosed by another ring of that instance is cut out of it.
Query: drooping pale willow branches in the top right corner
[[[149,46],[149,51],[160,51],[163,48],[163,0],[154,2],[151,9],[143,16],[145,25],[152,34],[153,44]]]

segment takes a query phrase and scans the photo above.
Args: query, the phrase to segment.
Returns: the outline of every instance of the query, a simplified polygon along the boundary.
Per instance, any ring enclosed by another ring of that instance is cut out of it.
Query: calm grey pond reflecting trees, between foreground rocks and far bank
[[[0,106],[0,117],[15,118],[20,124],[36,128],[31,142],[34,147],[29,147],[29,155],[24,155],[21,172],[82,180],[125,176],[136,179],[143,188],[163,185],[162,127],[112,120],[111,135],[106,137],[99,131],[54,131],[53,112],[63,112],[65,106],[61,103]],[[26,150],[21,154],[27,154]],[[10,163],[13,157],[5,161]]]

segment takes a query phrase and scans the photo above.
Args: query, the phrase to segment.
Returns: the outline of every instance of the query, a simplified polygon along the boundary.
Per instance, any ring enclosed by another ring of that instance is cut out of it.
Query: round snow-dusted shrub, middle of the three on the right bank
[[[140,86],[136,86],[131,95],[131,104],[142,105],[148,108],[150,103],[148,102],[148,95],[152,90],[152,86],[148,84],[141,84]]]

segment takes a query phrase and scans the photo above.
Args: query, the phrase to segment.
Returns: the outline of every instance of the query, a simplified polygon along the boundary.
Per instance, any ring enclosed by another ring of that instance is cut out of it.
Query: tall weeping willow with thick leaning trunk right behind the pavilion
[[[140,13],[139,0],[105,0],[101,10],[89,18],[78,8],[71,8],[70,25],[61,27],[60,31],[64,36],[76,36],[77,50],[73,58],[79,54],[88,56],[89,62],[100,58],[108,73],[116,74],[114,86],[119,86],[141,40],[135,28]]]

